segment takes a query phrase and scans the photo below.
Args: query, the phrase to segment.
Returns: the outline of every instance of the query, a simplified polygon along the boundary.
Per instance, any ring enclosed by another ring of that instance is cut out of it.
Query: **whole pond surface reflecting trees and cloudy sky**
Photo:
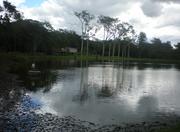
[[[100,124],[180,114],[178,65],[41,62],[36,64],[40,73],[29,73],[31,64],[22,67],[13,69],[33,106],[40,107],[37,113],[71,115]]]

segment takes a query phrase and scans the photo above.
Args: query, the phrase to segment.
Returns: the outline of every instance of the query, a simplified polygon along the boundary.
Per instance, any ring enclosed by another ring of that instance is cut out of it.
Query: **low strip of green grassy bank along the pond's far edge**
[[[108,56],[81,56],[79,54],[69,55],[45,55],[45,54],[26,54],[26,53],[0,53],[0,60],[9,60],[15,62],[31,62],[31,61],[61,61],[61,60],[77,60],[77,61],[136,61],[148,63],[180,63],[180,60],[164,60],[164,59],[150,59],[150,58],[122,58],[122,57],[108,57]]]

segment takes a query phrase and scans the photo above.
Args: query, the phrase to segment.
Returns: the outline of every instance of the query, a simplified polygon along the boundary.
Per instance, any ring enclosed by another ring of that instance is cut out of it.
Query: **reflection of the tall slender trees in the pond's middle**
[[[82,62],[80,67],[80,90],[74,101],[84,104],[88,99],[115,97],[119,92],[129,91],[132,88],[132,72],[126,73],[121,63],[102,63],[99,71],[94,71],[88,61]],[[127,77],[126,77],[127,76]],[[127,79],[126,79],[127,78]],[[93,96],[95,94],[95,96]]]

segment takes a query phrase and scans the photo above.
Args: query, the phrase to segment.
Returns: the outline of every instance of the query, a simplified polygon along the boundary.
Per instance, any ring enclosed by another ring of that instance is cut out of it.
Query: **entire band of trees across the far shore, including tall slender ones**
[[[14,5],[3,1],[0,6],[0,52],[53,54],[64,47],[77,48],[79,53],[103,56],[180,59],[180,43],[159,38],[148,41],[144,32],[136,35],[133,26],[117,18],[99,16],[91,25],[94,15],[88,11],[75,12],[80,20],[82,34],[65,29],[55,30],[50,23],[24,19]],[[96,33],[103,29],[104,38]]]

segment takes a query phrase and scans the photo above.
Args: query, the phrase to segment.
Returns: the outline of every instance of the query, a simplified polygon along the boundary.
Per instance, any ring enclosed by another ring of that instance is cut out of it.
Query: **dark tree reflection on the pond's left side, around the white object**
[[[49,65],[49,62],[43,65],[37,63],[37,68],[34,69],[31,63],[26,63],[12,67],[11,72],[19,75],[19,79],[23,81],[23,86],[27,90],[43,89],[43,92],[48,92],[57,80],[57,72],[49,69]]]

